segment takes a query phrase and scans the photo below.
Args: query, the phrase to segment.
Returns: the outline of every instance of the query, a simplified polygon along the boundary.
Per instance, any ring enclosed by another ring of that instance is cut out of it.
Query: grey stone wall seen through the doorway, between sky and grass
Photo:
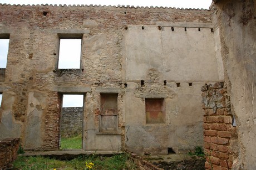
[[[61,113],[61,137],[82,135],[83,107],[63,107]]]

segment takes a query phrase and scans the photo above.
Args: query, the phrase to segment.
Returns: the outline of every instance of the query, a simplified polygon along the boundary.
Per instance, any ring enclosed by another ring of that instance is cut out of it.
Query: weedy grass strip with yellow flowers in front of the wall
[[[71,161],[60,161],[45,157],[25,157],[18,156],[13,162],[14,169],[85,169],[86,162],[92,162],[94,166],[91,169],[137,169],[135,164],[128,160],[127,154],[115,154],[112,157],[99,156],[80,156]]]

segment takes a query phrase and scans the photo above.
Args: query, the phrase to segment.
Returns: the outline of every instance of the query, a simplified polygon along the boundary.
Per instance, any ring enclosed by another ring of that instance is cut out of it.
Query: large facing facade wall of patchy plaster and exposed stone
[[[1,138],[23,137],[29,150],[58,150],[62,94],[83,94],[84,150],[128,147],[167,154],[168,147],[178,153],[203,146],[200,87],[223,80],[210,11],[4,4],[0,9],[0,34],[10,39],[0,81]],[[60,37],[78,35],[81,68],[57,69]],[[106,93],[117,95],[117,130],[111,133],[99,131],[100,96]],[[164,123],[146,124],[145,98],[164,98]]]

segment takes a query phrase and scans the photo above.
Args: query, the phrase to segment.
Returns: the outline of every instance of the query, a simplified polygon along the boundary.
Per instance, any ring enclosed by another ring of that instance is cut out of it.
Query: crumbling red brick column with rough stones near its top
[[[204,109],[204,151],[205,169],[231,169],[232,114],[227,89],[224,83],[205,85],[203,91]]]

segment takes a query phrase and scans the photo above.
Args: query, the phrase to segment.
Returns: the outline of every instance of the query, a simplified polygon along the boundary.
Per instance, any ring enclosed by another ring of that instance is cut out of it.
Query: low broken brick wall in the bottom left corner
[[[12,162],[17,158],[19,138],[6,138],[0,141],[0,169],[12,169]]]

